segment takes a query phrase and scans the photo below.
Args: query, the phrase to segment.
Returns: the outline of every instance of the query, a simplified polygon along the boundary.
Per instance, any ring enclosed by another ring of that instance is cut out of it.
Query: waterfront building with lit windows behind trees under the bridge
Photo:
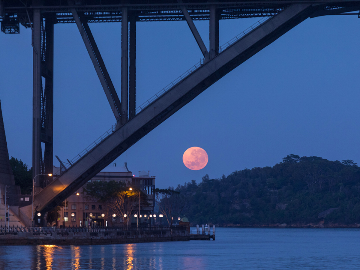
[[[54,167],[54,177],[60,173],[60,168]],[[108,166],[96,174],[88,183],[94,181],[118,181],[124,183],[128,187],[140,190],[147,195],[148,206],[140,207],[141,224],[151,222],[149,216],[153,214],[155,196],[155,176],[150,176],[149,171],[139,171],[139,176],[135,177],[127,164],[124,166]],[[60,215],[57,220],[57,226],[118,226],[124,224],[123,217],[113,216],[113,212],[105,203],[98,202],[86,198],[82,194],[83,188],[78,189],[70,195],[61,207]],[[66,205],[66,206],[65,206]],[[138,212],[138,211],[137,211]],[[138,213],[137,213],[138,214]],[[146,215],[146,217],[144,217]],[[128,217],[132,223],[136,222],[134,216]]]

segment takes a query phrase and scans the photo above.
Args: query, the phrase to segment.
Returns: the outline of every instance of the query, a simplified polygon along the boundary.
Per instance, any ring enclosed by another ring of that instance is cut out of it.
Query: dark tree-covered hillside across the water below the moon
[[[192,224],[349,225],[360,223],[360,168],[351,160],[289,155],[274,167],[178,185]],[[319,214],[330,208],[330,213]]]

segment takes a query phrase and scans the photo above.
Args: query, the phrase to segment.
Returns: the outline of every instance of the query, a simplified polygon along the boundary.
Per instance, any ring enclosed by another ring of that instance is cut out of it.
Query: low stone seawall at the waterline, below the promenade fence
[[[188,241],[186,230],[157,231],[7,231],[0,233],[0,246],[16,245],[102,245]]]

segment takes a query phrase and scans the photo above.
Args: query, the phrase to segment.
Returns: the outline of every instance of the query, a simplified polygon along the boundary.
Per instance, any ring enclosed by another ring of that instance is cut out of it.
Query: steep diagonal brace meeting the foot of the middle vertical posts
[[[70,2],[70,1],[69,1]],[[121,102],[116,93],[115,87],[111,81],[109,73],[105,67],[103,58],[94,40],[93,34],[90,31],[90,27],[84,18],[79,17],[75,8],[70,8],[71,13],[75,19],[76,25],[80,31],[82,40],[84,41],[87,52],[90,55],[90,59],[93,62],[96,74],[99,77],[100,83],[104,89],[105,95],[108,99],[110,107],[114,113],[116,121],[120,121],[121,116]]]

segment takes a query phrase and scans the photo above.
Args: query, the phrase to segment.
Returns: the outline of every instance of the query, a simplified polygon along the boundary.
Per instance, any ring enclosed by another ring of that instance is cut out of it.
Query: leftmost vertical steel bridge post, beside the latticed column
[[[32,68],[32,175],[42,174],[41,172],[41,12],[40,9],[33,9],[33,68]],[[40,186],[40,178],[36,177],[35,187]],[[36,192],[39,189],[36,189]]]

